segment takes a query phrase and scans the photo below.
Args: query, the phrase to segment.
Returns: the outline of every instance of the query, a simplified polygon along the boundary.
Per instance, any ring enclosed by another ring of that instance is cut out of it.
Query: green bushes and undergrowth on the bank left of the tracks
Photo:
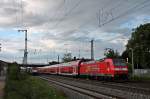
[[[5,99],[65,99],[48,83],[20,72],[16,64],[8,68]]]

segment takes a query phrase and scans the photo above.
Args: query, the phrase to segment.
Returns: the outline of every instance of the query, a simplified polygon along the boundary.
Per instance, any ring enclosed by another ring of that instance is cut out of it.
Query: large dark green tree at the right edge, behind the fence
[[[135,68],[150,68],[150,23],[140,25],[133,30],[131,39],[123,52],[123,58],[129,58],[131,63],[131,49],[134,53]]]

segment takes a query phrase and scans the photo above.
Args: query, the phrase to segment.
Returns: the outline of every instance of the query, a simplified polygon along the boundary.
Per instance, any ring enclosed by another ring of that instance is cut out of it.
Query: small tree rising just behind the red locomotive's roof
[[[105,52],[104,52],[104,55],[106,58],[119,58],[119,52],[116,50],[114,51],[113,49],[111,48],[106,48],[105,49]]]

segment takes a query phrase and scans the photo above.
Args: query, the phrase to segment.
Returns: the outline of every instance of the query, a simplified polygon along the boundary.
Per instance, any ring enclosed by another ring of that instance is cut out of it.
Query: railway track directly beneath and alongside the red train
[[[53,77],[53,75],[51,76]],[[56,77],[56,76],[54,76]],[[111,87],[114,89],[121,89],[121,90],[126,90],[126,91],[132,91],[134,93],[141,93],[141,94],[147,94],[150,95],[150,85],[149,86],[145,86],[144,88],[142,86],[140,86],[140,84],[136,84],[136,83],[130,83],[130,82],[110,82],[110,81],[96,81],[96,80],[85,80],[85,79],[75,79],[75,78],[70,78],[70,77],[62,77],[62,76],[57,76],[59,79],[67,79],[67,80],[73,80],[73,81],[77,81],[77,82],[81,82],[81,83],[90,83],[96,86],[107,86],[107,87]]]

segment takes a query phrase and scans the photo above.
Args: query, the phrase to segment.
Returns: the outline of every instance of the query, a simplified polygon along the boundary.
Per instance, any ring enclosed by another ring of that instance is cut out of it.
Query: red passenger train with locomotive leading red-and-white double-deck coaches
[[[34,74],[55,74],[89,78],[127,79],[128,66],[123,59],[106,58],[99,61],[77,60],[45,67],[32,68]]]

